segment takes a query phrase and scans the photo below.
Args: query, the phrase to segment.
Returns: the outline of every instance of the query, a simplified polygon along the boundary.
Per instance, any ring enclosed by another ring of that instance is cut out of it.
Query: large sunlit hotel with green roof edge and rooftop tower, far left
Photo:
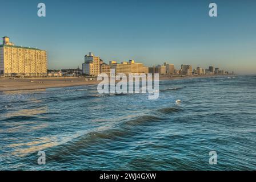
[[[46,76],[46,51],[14,46],[10,38],[3,37],[3,44],[0,45],[0,75]]]

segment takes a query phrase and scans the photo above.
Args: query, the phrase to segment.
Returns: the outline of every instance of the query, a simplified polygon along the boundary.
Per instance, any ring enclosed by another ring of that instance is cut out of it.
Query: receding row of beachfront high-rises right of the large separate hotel
[[[98,76],[99,73],[106,73],[110,76],[110,69],[115,69],[115,74],[118,73],[158,73],[159,75],[225,75],[229,72],[219,70],[213,66],[209,66],[208,69],[197,67],[193,69],[191,65],[181,65],[181,69],[175,69],[174,64],[164,62],[162,65],[154,65],[153,67],[146,67],[142,63],[137,63],[134,60],[121,61],[109,61],[109,64],[104,63],[99,56],[94,56],[92,52],[85,55],[85,63],[82,64],[83,74],[87,76]]]

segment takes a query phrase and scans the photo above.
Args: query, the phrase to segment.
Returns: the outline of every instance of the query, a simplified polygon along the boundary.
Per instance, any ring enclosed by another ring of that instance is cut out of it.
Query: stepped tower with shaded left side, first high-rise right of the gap
[[[83,74],[90,76],[98,76],[100,71],[100,58],[94,56],[93,53],[89,52],[85,55],[85,63],[82,64]]]

